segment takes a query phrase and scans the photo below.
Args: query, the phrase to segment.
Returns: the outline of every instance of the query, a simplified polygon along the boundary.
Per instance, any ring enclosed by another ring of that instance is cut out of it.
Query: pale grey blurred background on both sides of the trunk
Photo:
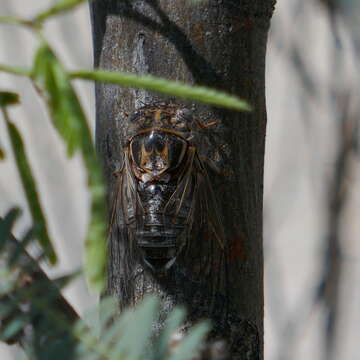
[[[0,14],[30,17],[50,0],[1,0]],[[92,66],[87,5],[51,20],[45,31],[69,68]],[[36,41],[0,24],[0,63],[29,66]],[[278,0],[267,55],[265,159],[265,358],[360,358],[360,1]],[[24,134],[60,264],[81,264],[89,195],[80,157],[66,158],[27,80],[0,73],[19,92],[11,117]],[[94,94],[76,83],[94,124]],[[0,121],[0,145],[9,149]],[[0,162],[0,215],[25,207],[9,154]],[[24,211],[16,228],[30,225]],[[80,312],[97,299],[78,280],[66,292]],[[18,350],[0,344],[0,359]]]

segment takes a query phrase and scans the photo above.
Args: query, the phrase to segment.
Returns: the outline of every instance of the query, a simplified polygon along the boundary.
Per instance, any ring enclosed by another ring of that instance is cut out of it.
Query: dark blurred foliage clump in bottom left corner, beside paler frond
[[[14,238],[17,216],[13,209],[0,218],[0,339],[19,343],[31,359],[73,359],[78,316],[60,292],[68,279],[51,281],[26,252],[31,231],[22,241]]]

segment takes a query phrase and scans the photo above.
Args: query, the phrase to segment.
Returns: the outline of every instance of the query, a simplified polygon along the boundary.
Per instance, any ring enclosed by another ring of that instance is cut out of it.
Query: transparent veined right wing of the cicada
[[[210,275],[223,258],[225,235],[206,168],[190,147],[177,188],[166,206],[174,223],[182,222],[186,237],[182,262],[194,278]]]

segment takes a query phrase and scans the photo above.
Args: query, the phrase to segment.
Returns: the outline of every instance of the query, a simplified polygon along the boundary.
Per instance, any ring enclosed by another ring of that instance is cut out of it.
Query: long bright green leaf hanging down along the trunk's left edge
[[[89,284],[101,291],[105,284],[106,209],[105,187],[87,119],[68,73],[47,44],[35,56],[32,78],[43,91],[55,128],[72,156],[80,150],[91,192],[91,219],[85,240],[85,273]]]

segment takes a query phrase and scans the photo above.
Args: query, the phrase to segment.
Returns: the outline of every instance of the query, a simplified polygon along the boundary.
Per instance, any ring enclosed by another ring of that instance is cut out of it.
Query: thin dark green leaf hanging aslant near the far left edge
[[[6,114],[5,110],[4,113]],[[27,203],[30,208],[31,217],[34,222],[35,235],[39,239],[39,242],[42,245],[50,263],[55,264],[57,261],[56,254],[48,234],[45,216],[41,208],[36,183],[32,175],[31,166],[27,159],[23,141],[17,128],[9,121],[7,115],[5,116],[5,119],[12,150],[15,156],[16,166],[19,171]]]

